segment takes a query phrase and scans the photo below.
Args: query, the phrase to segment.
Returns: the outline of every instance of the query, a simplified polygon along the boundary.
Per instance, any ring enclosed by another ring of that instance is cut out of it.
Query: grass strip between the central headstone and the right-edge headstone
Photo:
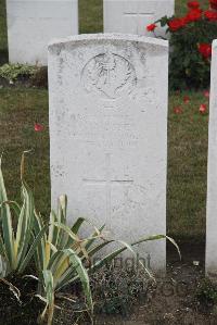
[[[176,237],[205,235],[208,115],[199,113],[201,103],[208,107],[201,92],[169,97],[167,228]],[[175,114],[179,105],[183,113]]]

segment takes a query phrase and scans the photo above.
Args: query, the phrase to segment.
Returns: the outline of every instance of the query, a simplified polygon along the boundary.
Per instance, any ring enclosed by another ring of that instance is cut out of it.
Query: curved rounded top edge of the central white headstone
[[[164,40],[164,39],[156,39],[152,37],[132,35],[132,34],[100,33],[100,34],[81,34],[75,36],[68,36],[62,39],[53,39],[49,43],[49,49],[55,46],[67,45],[67,43],[69,45],[72,42],[88,42],[88,41],[100,41],[100,40],[135,41],[135,42],[143,42],[143,43],[168,48],[168,40]]]

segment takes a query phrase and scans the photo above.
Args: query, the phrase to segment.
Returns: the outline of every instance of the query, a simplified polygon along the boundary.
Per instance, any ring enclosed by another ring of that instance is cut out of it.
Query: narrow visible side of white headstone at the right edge
[[[207,182],[206,274],[217,279],[217,40],[212,55]]]

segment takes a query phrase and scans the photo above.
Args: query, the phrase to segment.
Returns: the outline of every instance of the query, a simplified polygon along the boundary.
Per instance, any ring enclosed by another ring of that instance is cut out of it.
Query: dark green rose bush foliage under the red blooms
[[[169,83],[173,89],[208,88],[210,60],[199,51],[200,43],[212,43],[217,35],[217,23],[200,21],[170,36]]]

